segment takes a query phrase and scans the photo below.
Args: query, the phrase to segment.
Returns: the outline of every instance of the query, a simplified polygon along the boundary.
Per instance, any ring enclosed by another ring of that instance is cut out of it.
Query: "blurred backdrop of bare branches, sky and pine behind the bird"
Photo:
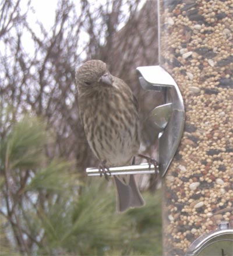
[[[75,69],[101,59],[131,87],[144,120],[160,103],[135,68],[157,64],[157,1],[1,1],[1,255],[161,255],[159,185],[137,177],[146,206],[115,210],[112,182],[77,111]],[[153,155],[151,125],[143,150]],[[94,181],[93,181],[94,180]]]

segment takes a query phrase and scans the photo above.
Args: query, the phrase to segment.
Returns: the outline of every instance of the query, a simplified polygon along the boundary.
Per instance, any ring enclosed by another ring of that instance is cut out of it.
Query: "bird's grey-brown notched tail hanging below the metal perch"
[[[114,176],[114,180],[117,186],[118,212],[144,205],[144,200],[132,174],[129,176]]]

